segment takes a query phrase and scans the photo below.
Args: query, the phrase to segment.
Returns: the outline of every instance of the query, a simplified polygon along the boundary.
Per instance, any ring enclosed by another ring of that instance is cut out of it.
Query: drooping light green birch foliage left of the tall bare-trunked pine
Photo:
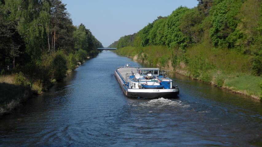
[[[10,11],[9,20],[18,21],[18,32],[24,37],[26,53],[31,58],[39,58],[46,43],[46,24],[50,20],[50,7],[47,1],[6,0],[5,9]]]

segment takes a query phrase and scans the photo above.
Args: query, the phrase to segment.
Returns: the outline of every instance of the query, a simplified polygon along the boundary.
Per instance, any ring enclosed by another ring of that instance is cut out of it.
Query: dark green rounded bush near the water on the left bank
[[[64,78],[68,70],[65,55],[63,55],[61,52],[57,52],[51,62],[51,68],[53,77],[56,80],[61,80]]]

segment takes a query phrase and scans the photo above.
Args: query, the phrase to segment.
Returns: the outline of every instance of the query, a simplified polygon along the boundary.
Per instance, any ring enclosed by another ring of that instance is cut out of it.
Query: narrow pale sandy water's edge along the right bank
[[[117,53],[117,52],[115,52],[115,53],[118,54],[118,55],[123,55],[123,54],[119,54],[119,53]],[[134,57],[128,56],[128,55],[123,55],[123,56],[126,56],[126,57],[128,57],[128,58],[131,58],[132,60],[137,61],[137,62],[139,62],[139,63],[149,64],[149,63],[147,62],[147,60],[141,61],[140,59],[138,59],[138,55],[135,55]],[[170,62],[170,61],[169,61],[169,62]],[[150,64],[149,64],[149,65],[150,65]],[[157,64],[157,67],[160,67],[160,66]],[[205,82],[205,81],[203,81],[203,80],[201,80],[201,79],[197,79],[197,78],[194,78],[194,77],[192,77],[192,76],[187,75],[187,74],[186,74],[186,73],[187,73],[186,70],[181,70],[181,69],[176,69],[176,70],[174,70],[174,68],[171,66],[170,63],[169,63],[169,65],[164,66],[164,68],[170,70],[170,71],[173,72],[173,73],[177,73],[177,74],[181,74],[181,75],[186,76],[186,77],[190,77],[190,78],[193,79],[193,80],[201,81],[201,82],[203,82],[203,83],[207,83],[207,84],[216,86],[217,88],[220,88],[220,89],[225,89],[225,90],[230,91],[230,92],[235,93],[235,94],[240,94],[240,95],[248,96],[248,97],[253,98],[253,99],[255,99],[255,100],[260,100],[260,101],[262,101],[262,99],[260,99],[259,96],[250,95],[250,94],[248,94],[246,91],[234,90],[234,89],[233,89],[234,87],[228,87],[228,86],[221,86],[221,87],[219,87],[219,86],[218,86],[217,84],[215,84],[214,82],[211,82],[211,83]]]

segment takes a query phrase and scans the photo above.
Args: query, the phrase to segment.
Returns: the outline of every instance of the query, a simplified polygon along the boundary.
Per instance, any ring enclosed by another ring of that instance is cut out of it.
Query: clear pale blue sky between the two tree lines
[[[103,44],[138,32],[158,16],[168,16],[179,6],[193,8],[197,0],[62,0],[74,25],[83,23]]]

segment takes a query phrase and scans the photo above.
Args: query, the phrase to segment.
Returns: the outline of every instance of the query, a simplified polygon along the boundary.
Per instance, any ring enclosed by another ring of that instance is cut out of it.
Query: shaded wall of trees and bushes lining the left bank
[[[65,6],[61,0],[0,0],[0,67],[13,65],[11,73],[45,89],[96,56],[102,44],[83,24],[72,24]]]

